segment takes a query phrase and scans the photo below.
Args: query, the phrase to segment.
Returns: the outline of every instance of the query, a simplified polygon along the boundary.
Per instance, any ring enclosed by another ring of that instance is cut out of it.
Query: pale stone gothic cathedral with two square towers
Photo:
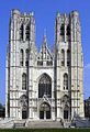
[[[56,14],[54,48],[35,45],[34,13],[12,10],[5,63],[5,117],[71,121],[85,117],[79,13]]]

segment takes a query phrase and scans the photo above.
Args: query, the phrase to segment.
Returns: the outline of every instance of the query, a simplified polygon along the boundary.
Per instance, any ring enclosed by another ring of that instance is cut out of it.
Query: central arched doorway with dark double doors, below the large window
[[[40,107],[40,119],[50,119],[50,106],[44,102]]]

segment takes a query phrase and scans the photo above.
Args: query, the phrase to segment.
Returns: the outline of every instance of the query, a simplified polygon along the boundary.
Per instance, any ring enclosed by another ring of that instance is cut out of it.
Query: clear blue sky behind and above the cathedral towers
[[[36,46],[40,48],[44,29],[49,47],[54,45],[56,13],[78,10],[82,31],[85,58],[83,91],[90,96],[90,0],[1,0],[0,1],[0,102],[5,100],[5,53],[9,43],[9,19],[12,9],[21,12],[34,11],[36,21]]]

